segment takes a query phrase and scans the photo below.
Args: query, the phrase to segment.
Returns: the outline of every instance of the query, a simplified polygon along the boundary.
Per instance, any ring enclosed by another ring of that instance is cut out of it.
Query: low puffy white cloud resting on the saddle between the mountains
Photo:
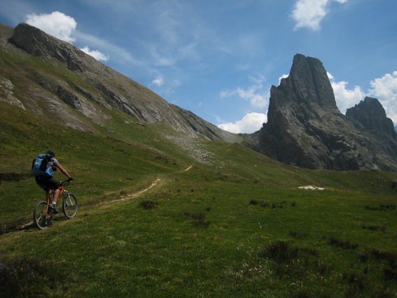
[[[218,127],[234,134],[254,133],[261,129],[262,125],[267,122],[267,115],[263,113],[248,113],[243,119],[235,123],[219,124]]]

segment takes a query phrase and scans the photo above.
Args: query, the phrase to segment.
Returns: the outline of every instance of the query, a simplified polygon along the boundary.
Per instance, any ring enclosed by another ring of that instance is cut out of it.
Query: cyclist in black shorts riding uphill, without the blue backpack
[[[60,183],[53,177],[53,171],[56,171],[58,168],[68,178],[68,181],[73,181],[73,178],[62,167],[58,160],[55,159],[55,152],[53,150],[48,150],[45,158],[48,161],[46,165],[46,173],[36,175],[35,180],[36,183],[47,192],[47,194],[50,194],[51,190],[53,190],[53,200],[50,204],[50,207],[54,210],[55,213],[59,213],[57,209],[57,200],[60,194]]]

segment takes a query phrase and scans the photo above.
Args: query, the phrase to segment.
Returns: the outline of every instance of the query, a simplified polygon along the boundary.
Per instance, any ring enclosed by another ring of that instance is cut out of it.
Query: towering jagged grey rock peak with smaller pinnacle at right
[[[365,98],[343,115],[320,60],[297,54],[289,76],[270,89],[257,149],[309,169],[397,170],[397,136],[381,103]]]

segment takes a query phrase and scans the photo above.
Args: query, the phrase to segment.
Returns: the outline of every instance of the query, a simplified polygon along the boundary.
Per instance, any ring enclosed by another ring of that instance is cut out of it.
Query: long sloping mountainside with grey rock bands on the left
[[[164,123],[192,138],[237,140],[236,135],[169,104],[77,47],[28,24],[15,28],[0,24],[0,51],[0,100],[31,113],[95,131],[90,121],[104,125],[116,109],[135,123]],[[29,63],[15,62],[21,59]]]

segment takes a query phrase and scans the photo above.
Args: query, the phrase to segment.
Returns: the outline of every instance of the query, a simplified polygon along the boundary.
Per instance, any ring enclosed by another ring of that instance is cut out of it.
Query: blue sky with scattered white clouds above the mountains
[[[1,0],[26,22],[234,133],[267,121],[297,53],[320,59],[344,114],[378,98],[397,125],[396,0]]]

